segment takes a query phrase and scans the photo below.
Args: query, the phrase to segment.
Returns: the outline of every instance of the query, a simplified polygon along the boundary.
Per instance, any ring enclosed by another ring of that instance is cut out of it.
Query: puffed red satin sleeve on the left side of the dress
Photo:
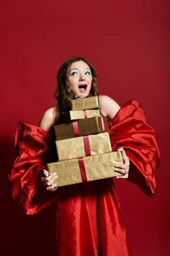
[[[42,169],[51,158],[50,135],[28,123],[19,122],[15,134],[15,162],[9,180],[12,197],[26,214],[35,214],[54,202],[64,187],[54,192],[46,191],[40,178]]]

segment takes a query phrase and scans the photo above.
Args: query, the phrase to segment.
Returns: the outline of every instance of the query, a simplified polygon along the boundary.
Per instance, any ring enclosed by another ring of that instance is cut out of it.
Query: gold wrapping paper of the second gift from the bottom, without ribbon
[[[108,132],[89,135],[88,137],[91,156],[112,152],[110,135]],[[83,137],[56,141],[56,150],[59,161],[86,156]]]

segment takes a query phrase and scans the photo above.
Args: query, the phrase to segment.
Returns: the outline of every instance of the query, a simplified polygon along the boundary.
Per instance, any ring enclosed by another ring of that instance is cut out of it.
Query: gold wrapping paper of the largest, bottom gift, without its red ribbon
[[[83,160],[87,181],[122,176],[122,174],[114,171],[115,164],[123,164],[121,152],[87,156]],[[57,173],[58,178],[55,181],[57,187],[82,183],[78,159],[47,164],[47,170],[50,174]]]

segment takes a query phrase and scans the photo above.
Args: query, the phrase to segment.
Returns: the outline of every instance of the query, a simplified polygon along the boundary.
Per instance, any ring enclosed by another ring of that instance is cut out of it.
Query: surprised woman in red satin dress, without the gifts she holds
[[[58,71],[56,108],[48,109],[40,127],[19,123],[15,146],[17,158],[9,179],[13,198],[26,214],[56,203],[57,255],[132,255],[120,214],[113,179],[56,187],[57,174],[44,169],[52,158],[52,127],[69,108],[76,94],[97,96],[96,72],[83,58],[67,59]],[[147,195],[155,193],[159,150],[155,131],[146,124],[142,108],[130,100],[122,108],[108,96],[99,96],[101,115],[110,119],[112,150],[120,150],[124,164],[113,169],[119,179],[136,183]],[[42,176],[42,170],[44,177]],[[41,181],[42,182],[41,182]]]

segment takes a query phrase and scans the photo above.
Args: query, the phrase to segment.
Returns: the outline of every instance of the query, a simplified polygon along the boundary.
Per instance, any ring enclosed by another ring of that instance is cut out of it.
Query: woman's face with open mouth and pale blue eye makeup
[[[91,90],[92,75],[89,66],[84,61],[76,61],[71,64],[68,85],[69,88],[81,96],[87,97]]]

